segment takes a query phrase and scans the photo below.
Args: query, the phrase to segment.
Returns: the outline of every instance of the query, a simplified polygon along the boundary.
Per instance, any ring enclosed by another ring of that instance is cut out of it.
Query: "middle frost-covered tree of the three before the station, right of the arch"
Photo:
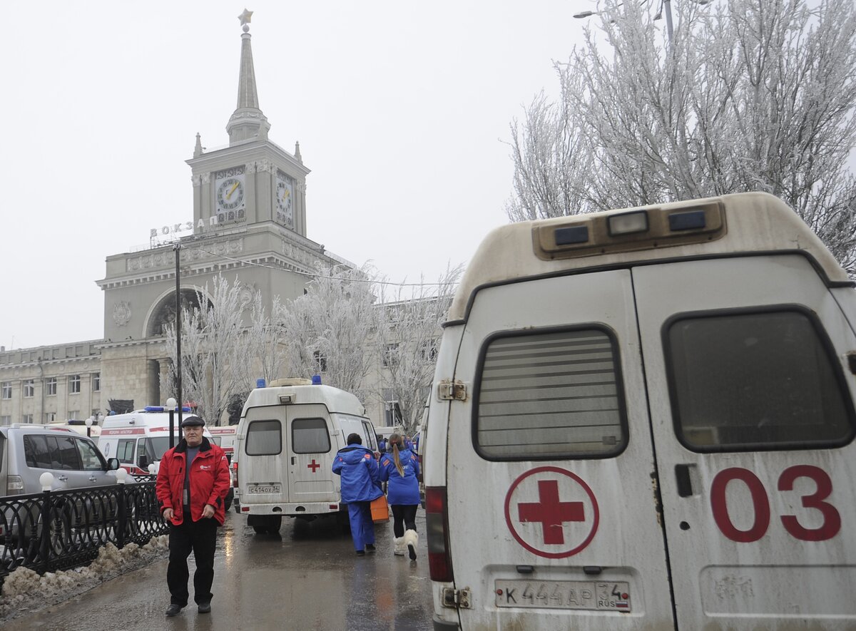
[[[306,293],[288,301],[276,315],[288,348],[289,376],[321,374],[326,385],[363,398],[363,380],[372,368],[366,340],[377,326],[374,278],[368,265],[352,269],[318,264]]]

